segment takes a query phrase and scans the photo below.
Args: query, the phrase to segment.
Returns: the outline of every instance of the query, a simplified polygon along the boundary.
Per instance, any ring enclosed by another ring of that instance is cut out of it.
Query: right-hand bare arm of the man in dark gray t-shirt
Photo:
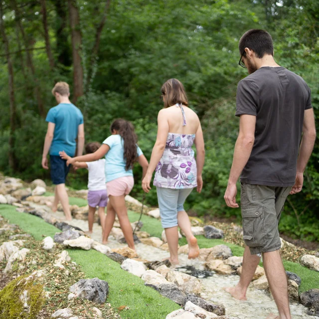
[[[313,152],[316,141],[316,126],[314,110],[309,109],[305,111],[304,126],[303,126],[303,138],[299,149],[299,157],[297,161],[297,175],[296,182],[293,186],[290,194],[299,193],[304,184],[304,171],[307,163],[310,159],[311,153]]]

